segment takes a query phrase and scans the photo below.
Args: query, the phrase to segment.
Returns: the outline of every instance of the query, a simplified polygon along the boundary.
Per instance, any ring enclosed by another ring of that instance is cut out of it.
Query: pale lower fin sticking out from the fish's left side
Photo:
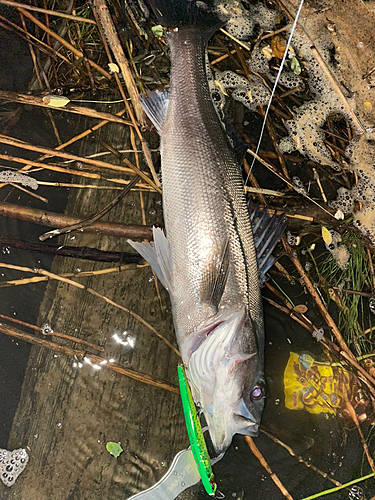
[[[152,231],[153,242],[139,243],[128,240],[128,243],[150,264],[160,283],[171,293],[173,290],[171,248],[162,229],[153,227]]]

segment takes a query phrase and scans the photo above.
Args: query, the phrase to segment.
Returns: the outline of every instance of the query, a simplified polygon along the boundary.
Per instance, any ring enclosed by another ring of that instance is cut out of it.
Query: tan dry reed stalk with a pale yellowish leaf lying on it
[[[107,122],[121,123],[122,125],[132,125],[131,122],[124,120],[118,115],[112,115],[111,113],[105,113],[104,111],[96,111],[95,109],[85,108],[84,106],[75,106],[71,102],[63,108],[54,108],[53,106],[43,102],[41,97],[19,94],[17,92],[7,92],[5,90],[0,90],[0,99],[19,102],[21,104],[30,104],[31,106],[39,106],[42,108],[55,109],[57,111],[65,111],[76,115],[89,116],[91,118],[98,118]]]

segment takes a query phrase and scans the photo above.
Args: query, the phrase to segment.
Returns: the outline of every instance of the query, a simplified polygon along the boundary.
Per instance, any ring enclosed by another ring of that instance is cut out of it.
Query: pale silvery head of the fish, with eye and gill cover
[[[217,315],[217,326],[192,353],[188,378],[216,453],[234,434],[257,436],[264,407],[262,356],[245,310]]]

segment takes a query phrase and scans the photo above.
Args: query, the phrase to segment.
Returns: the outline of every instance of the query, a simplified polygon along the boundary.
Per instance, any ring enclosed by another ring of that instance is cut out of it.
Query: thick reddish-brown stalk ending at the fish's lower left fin
[[[82,220],[79,217],[70,217],[7,202],[0,202],[0,215],[47,227],[65,227],[78,224]],[[91,226],[85,227],[81,232],[100,233],[117,238],[146,239],[147,241],[151,241],[153,238],[152,226],[130,226],[113,222],[95,222]]]

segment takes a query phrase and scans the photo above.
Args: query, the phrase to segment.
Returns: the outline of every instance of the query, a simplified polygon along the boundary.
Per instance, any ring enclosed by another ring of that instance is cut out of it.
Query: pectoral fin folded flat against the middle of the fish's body
[[[229,240],[220,253],[212,252],[204,264],[204,276],[200,288],[201,304],[208,304],[217,311],[223,296],[229,271]]]

